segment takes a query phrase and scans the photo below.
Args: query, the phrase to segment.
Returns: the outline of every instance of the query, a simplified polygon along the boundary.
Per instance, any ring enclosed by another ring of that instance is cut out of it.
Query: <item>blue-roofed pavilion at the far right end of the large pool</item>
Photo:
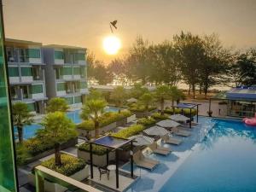
[[[212,101],[220,101],[226,105],[226,116],[253,117],[256,113],[256,86],[238,86],[229,91],[219,92],[209,99],[209,111]]]

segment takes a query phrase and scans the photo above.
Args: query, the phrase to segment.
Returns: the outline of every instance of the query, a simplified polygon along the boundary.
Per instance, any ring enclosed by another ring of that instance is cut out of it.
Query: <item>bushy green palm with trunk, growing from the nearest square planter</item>
[[[77,136],[75,125],[62,112],[48,113],[41,125],[43,125],[44,129],[38,130],[37,137],[49,143],[54,143],[55,166],[61,166],[61,143],[65,143],[69,138]]]

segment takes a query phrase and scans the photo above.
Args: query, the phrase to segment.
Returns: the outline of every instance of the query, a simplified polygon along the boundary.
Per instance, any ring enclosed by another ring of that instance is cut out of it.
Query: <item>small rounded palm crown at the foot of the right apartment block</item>
[[[55,97],[49,100],[46,111],[48,113],[54,113],[56,111],[67,112],[67,109],[67,101],[64,98]]]

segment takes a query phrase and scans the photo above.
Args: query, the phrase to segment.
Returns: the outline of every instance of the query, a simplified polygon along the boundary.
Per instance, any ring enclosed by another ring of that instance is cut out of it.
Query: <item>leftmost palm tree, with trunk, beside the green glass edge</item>
[[[33,122],[32,117],[27,108],[27,104],[24,102],[15,102],[12,107],[13,123],[17,127],[19,143],[23,142],[23,127],[25,125],[31,125]]]

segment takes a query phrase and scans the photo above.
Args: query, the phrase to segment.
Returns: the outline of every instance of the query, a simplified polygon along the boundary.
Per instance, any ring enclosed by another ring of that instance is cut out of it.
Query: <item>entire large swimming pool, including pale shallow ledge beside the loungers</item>
[[[201,130],[212,123],[212,129],[208,133],[205,131],[207,136],[200,143],[191,145],[191,140],[200,141],[200,137],[188,138],[183,144],[190,141],[191,149],[172,147],[175,152],[166,157],[150,155],[161,164],[153,172],[136,170],[141,179],[127,191],[256,191],[256,127],[236,120],[200,121]],[[129,168],[125,165],[124,169]]]

